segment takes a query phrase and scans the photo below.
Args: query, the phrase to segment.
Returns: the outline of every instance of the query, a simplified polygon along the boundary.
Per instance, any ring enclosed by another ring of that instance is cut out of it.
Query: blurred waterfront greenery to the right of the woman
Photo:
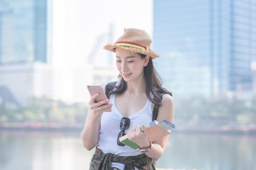
[[[256,97],[251,101],[193,97],[174,101],[175,122],[190,127],[256,124]]]

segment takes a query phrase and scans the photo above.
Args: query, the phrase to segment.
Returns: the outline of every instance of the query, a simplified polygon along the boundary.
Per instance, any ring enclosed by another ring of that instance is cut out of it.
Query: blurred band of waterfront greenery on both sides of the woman
[[[256,124],[256,97],[250,101],[225,97],[206,99],[193,97],[174,100],[175,124],[182,126],[251,125]],[[36,122],[61,125],[84,124],[85,103],[64,103],[51,99],[32,98],[26,106],[16,108],[0,104],[0,123]]]

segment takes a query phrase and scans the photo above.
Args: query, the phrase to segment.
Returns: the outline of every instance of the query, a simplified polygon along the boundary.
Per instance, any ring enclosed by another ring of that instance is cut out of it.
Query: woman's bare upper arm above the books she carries
[[[173,98],[169,94],[164,94],[162,98],[162,106],[159,108],[157,120],[162,121],[166,119],[173,122],[174,109],[173,109]]]

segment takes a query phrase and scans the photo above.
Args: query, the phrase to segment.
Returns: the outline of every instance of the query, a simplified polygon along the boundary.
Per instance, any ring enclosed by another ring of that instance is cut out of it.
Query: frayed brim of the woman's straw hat
[[[105,49],[107,51],[111,51],[111,52],[116,52],[116,49],[127,51],[127,52],[132,52],[132,53],[137,52],[137,53],[149,55],[152,59],[155,59],[160,56],[159,54],[157,54],[151,50],[140,50],[137,48],[130,48],[130,47],[128,48],[128,47],[123,47],[123,46],[117,46],[115,44],[107,44],[103,47],[103,49]]]

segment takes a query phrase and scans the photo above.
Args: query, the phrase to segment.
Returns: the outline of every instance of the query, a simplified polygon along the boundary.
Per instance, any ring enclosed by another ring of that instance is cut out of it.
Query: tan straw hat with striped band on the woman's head
[[[152,59],[159,57],[157,53],[150,50],[152,40],[148,33],[135,28],[125,28],[124,34],[114,44],[107,44],[103,49],[115,52],[121,49],[128,52],[137,52],[149,55]]]

